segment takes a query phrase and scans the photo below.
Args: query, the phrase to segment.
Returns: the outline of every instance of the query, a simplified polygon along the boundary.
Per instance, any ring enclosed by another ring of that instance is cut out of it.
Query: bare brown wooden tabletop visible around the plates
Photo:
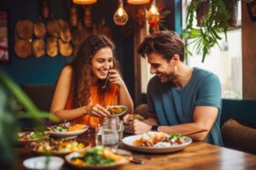
[[[129,136],[131,134],[125,134]],[[95,130],[90,128],[79,135],[79,141],[89,141],[95,145]],[[129,150],[121,142],[119,148]],[[18,153],[15,169],[26,169],[23,161],[26,158],[36,156],[27,145],[17,146]],[[142,165],[128,163],[119,169],[122,170],[154,170],[154,169],[256,169],[256,156],[238,150],[231,150],[204,142],[192,142],[183,150],[166,154],[148,154],[130,150],[133,157],[143,160]],[[73,169],[65,163],[62,170]]]

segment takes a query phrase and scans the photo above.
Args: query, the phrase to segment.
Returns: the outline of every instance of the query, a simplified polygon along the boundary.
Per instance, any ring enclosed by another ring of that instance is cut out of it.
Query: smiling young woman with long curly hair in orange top
[[[103,88],[109,74],[107,87]],[[133,103],[120,76],[114,57],[114,45],[108,37],[88,37],[73,61],[61,71],[50,112],[67,120],[96,127],[108,116],[108,105],[126,105],[132,113]]]

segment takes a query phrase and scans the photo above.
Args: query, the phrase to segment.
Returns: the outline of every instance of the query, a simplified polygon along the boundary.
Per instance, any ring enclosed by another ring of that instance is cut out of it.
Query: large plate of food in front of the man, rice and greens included
[[[148,132],[126,137],[122,142],[132,150],[147,153],[168,153],[182,150],[191,144],[192,139],[177,133]]]

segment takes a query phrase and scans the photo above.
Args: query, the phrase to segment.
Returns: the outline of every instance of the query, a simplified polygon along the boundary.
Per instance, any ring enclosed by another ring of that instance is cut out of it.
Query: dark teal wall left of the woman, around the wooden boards
[[[41,58],[29,57],[20,59],[15,55],[15,24],[18,20],[29,19],[33,22],[38,21],[38,3],[37,0],[1,0],[1,9],[6,9],[9,14],[9,63],[0,63],[0,70],[6,72],[12,79],[20,84],[38,84],[54,83],[68,58],[56,56],[50,58],[43,56]],[[51,2],[53,3],[53,2]],[[61,1],[55,1],[56,4]],[[62,5],[63,6],[63,5]],[[59,5],[61,8],[61,5]],[[65,14],[67,8],[59,10],[58,17],[67,18]],[[43,20],[46,22],[47,20]]]

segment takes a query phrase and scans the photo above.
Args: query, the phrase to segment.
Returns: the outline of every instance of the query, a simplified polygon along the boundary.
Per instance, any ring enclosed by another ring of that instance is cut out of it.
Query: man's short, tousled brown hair
[[[184,60],[184,44],[175,31],[157,31],[144,38],[137,49],[137,54],[145,57],[148,54],[162,54],[169,61],[174,54],[179,55],[181,61]]]

